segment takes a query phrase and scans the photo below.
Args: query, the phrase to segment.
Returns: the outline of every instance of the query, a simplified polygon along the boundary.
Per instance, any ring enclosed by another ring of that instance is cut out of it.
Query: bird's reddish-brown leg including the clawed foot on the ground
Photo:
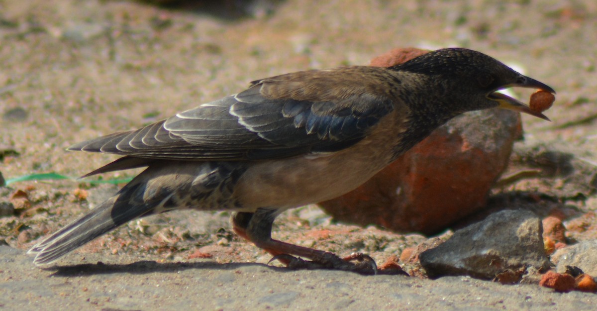
[[[279,260],[291,269],[334,269],[367,275],[376,273],[375,261],[368,255],[352,254],[343,259],[333,253],[272,239],[272,224],[278,213],[277,210],[268,209],[259,209],[255,213],[235,213],[231,218],[233,230],[257,247],[274,255],[272,260]],[[302,260],[292,255],[309,258],[312,261]]]

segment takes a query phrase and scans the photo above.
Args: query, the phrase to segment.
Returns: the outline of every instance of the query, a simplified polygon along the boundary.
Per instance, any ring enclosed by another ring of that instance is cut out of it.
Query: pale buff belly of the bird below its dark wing
[[[234,196],[247,210],[293,208],[333,199],[355,189],[384,168],[391,149],[359,143],[327,156],[302,156],[252,165]]]

